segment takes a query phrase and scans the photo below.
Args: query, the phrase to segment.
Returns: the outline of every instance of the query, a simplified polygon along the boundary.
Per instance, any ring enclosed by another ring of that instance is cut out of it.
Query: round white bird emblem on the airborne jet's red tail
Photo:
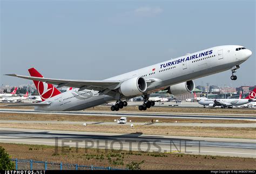
[[[37,84],[37,90],[42,100],[47,100],[52,97],[54,87],[51,84],[39,81]]]

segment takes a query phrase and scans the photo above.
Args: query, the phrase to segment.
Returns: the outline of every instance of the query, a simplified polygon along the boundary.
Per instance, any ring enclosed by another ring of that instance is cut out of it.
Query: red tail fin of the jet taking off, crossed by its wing
[[[41,75],[35,68],[30,68],[28,71],[31,76],[43,78],[43,75]],[[55,88],[53,85],[49,83],[35,80],[33,80],[33,82],[35,83],[35,86],[37,88],[39,95],[41,96],[42,101],[50,99],[53,96],[56,96],[61,93],[60,91],[58,91],[57,88]]]

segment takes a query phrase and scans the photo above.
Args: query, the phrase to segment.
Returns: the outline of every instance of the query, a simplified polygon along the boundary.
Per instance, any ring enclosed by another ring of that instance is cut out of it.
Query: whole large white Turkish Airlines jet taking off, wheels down
[[[113,76],[105,80],[68,80],[44,78],[35,68],[29,69],[31,76],[5,74],[33,80],[41,103],[27,103],[21,106],[35,106],[35,110],[82,110],[116,101],[111,110],[127,106],[125,99],[144,96],[144,102],[138,108],[146,110],[154,105],[149,101],[150,94],[166,89],[173,95],[191,93],[194,90],[193,79],[227,71],[233,75],[252,52],[239,45],[224,45],[207,48],[176,59],[167,60],[135,71]],[[68,86],[78,91],[60,93],[57,88]]]

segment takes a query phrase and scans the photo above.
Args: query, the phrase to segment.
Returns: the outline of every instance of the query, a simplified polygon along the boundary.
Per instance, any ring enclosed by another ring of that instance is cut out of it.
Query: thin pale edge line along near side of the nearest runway
[[[3,141],[19,141],[19,142],[34,142],[34,143],[50,143],[50,144],[56,144],[55,142],[44,142],[44,141],[24,141],[24,140],[9,140],[9,139],[0,139],[0,140],[3,140]],[[62,144],[62,143],[58,143],[58,144]],[[76,145],[76,143],[65,143],[65,144],[71,144],[71,145]],[[120,148],[120,146],[114,146],[114,145],[104,145],[105,147],[116,147],[116,148]],[[123,146],[123,148],[131,148],[129,146],[125,147]],[[140,147],[140,149],[148,149],[148,148],[144,148],[144,147]],[[150,148],[150,149],[157,149],[159,150],[158,148]],[[108,150],[108,149],[107,149]],[[109,149],[111,150],[111,149]],[[177,151],[177,149],[161,149],[161,150],[173,150],[173,151]],[[184,151],[184,150],[180,150],[180,151]],[[187,152],[190,152],[190,151],[194,151],[194,152],[198,152],[198,150],[187,150]],[[221,152],[221,151],[202,151],[200,150],[200,152],[211,152],[211,153],[215,153],[215,154],[240,154],[240,155],[256,155],[256,154],[248,154],[248,153],[240,153],[240,152]],[[200,153],[199,153],[200,154]]]

